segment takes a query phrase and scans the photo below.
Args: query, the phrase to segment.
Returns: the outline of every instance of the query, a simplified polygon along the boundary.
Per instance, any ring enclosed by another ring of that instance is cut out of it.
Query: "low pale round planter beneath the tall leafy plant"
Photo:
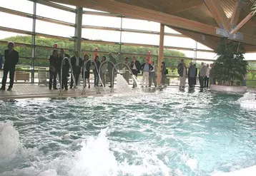
[[[246,86],[223,86],[223,85],[211,85],[210,90],[227,93],[246,93]]]

